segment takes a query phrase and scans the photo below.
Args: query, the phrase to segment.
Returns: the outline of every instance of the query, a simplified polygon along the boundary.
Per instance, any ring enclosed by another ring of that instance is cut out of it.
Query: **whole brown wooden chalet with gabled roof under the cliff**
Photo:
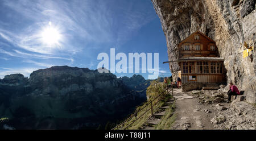
[[[196,31],[177,47],[180,71],[176,72],[176,77],[181,77],[183,90],[213,88],[226,83],[224,59],[220,58],[216,43],[208,36]]]

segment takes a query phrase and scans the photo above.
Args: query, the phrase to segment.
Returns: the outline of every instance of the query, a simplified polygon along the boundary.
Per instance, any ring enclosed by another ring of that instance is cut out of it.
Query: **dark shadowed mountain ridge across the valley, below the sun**
[[[142,78],[137,84],[146,81]],[[145,100],[146,92],[131,89],[114,74],[88,68],[51,67],[30,78],[0,79],[0,117],[10,118],[8,125],[16,129],[97,128],[125,118]]]

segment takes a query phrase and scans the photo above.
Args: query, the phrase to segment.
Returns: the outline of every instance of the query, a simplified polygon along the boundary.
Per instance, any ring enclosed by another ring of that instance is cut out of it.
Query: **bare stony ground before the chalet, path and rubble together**
[[[170,90],[169,93],[172,94]],[[243,96],[238,97],[236,100],[233,97],[231,103],[226,103],[227,97],[224,93],[222,90],[182,92],[181,89],[174,89],[174,98],[176,100],[171,103],[175,103],[176,106],[172,114],[175,122],[168,129],[255,130],[256,107],[244,101]],[[164,115],[162,112],[159,114]],[[161,120],[162,118],[159,116],[152,117],[147,122],[151,126],[147,126],[144,129],[154,129],[154,126],[159,125]]]

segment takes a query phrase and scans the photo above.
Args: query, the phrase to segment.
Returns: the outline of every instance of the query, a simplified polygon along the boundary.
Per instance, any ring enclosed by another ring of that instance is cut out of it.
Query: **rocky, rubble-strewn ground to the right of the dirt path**
[[[193,94],[193,92],[191,93]],[[256,107],[246,102],[243,99],[244,96],[237,96],[232,103],[225,102],[228,95],[222,90],[201,90],[199,93],[194,93],[193,96],[199,98],[199,109],[205,109],[203,111],[210,117],[210,123],[214,128],[255,130]],[[234,96],[232,97],[234,98]],[[212,113],[207,111],[212,111]]]

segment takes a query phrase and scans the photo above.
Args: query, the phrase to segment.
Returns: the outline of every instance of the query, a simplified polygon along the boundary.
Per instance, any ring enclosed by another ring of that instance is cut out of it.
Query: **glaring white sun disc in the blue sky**
[[[61,38],[60,32],[57,28],[52,26],[51,22],[49,22],[48,27],[43,29],[41,36],[42,42],[47,45],[59,44],[59,40]]]

